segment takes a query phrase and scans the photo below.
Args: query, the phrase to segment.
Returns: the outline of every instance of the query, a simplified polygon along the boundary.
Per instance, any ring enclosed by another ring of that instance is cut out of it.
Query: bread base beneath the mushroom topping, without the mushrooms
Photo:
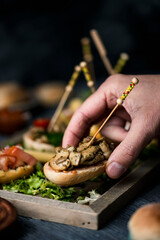
[[[86,167],[77,167],[74,170],[58,172],[50,167],[50,161],[44,165],[45,176],[57,185],[71,186],[85,182],[105,172],[107,161],[102,161]]]

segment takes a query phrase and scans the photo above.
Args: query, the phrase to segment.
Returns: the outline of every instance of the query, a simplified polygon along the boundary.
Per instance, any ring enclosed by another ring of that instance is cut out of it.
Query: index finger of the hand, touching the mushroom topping
[[[74,113],[63,137],[63,147],[77,145],[89,127],[107,114],[106,95],[99,88]]]

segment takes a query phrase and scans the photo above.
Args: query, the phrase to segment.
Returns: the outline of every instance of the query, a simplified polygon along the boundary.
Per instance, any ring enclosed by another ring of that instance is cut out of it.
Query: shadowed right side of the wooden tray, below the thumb
[[[160,169],[160,160],[148,159],[105,192],[90,207],[97,213],[98,229],[135,197]]]

